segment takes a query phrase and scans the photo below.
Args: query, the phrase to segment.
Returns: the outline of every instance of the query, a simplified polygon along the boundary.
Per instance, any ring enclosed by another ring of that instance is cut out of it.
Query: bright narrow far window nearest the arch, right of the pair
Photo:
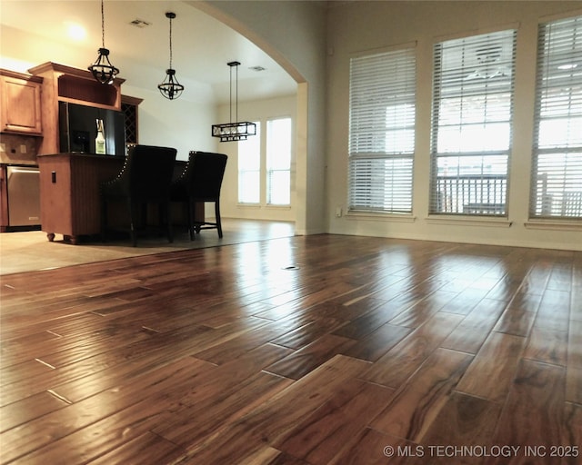
[[[291,204],[291,118],[266,122],[266,203]]]

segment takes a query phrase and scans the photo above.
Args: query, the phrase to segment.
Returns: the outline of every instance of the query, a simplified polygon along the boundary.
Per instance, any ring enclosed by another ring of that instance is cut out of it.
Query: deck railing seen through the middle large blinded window
[[[504,174],[437,176],[433,213],[505,215],[507,177]]]

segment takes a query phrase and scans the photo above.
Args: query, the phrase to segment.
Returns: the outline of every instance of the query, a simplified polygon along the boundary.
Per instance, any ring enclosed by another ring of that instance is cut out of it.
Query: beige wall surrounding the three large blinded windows
[[[580,2],[356,2],[330,8],[327,36],[326,219],[329,233],[582,250],[582,224],[533,227],[527,219],[533,134],[537,24],[581,14]],[[517,28],[514,144],[509,218],[462,220],[428,215],[432,46],[458,35]],[[346,213],[349,59],[416,43],[416,153],[413,215]],[[342,216],[336,217],[336,209]]]

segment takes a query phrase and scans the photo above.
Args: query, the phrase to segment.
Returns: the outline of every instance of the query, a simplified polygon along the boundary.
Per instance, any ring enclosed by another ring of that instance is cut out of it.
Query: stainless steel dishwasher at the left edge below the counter
[[[8,226],[40,225],[40,172],[38,166],[6,166]]]

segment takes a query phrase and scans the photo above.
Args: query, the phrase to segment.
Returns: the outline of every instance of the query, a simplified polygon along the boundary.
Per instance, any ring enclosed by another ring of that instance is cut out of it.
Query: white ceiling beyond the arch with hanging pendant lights
[[[199,93],[210,88],[215,102],[227,103],[230,88],[227,63],[231,61],[241,63],[237,69],[239,101],[296,94],[291,76],[256,45],[195,6],[176,0],[105,0],[105,47],[110,50],[112,64],[120,69],[118,77],[125,78],[126,84],[156,89],[156,84],[164,79],[169,65],[168,11],[176,13],[172,20],[172,67],[186,87],[184,97],[188,98],[189,89]],[[135,19],[151,25],[144,28],[131,25]],[[95,61],[101,46],[101,3],[0,0],[0,25],[78,48],[83,63],[88,65]],[[72,39],[68,35],[69,25],[85,28],[85,38]],[[249,69],[253,66],[266,70]]]

